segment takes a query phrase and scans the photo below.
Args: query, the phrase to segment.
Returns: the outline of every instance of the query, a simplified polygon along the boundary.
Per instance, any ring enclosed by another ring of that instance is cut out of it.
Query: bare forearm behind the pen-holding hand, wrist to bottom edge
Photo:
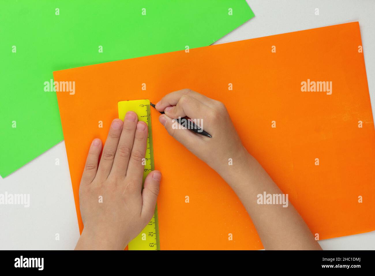
[[[228,171],[221,173],[237,194],[250,215],[263,246],[268,250],[321,250],[305,221],[288,202],[258,204],[257,195],[279,195],[282,191],[263,167],[248,152],[242,153],[241,162],[233,162]],[[286,204],[285,204],[286,205]]]

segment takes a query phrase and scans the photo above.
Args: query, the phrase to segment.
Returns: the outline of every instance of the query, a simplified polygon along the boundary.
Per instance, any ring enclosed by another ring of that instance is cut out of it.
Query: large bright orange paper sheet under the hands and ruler
[[[57,97],[80,229],[86,155],[95,137],[105,141],[118,101],[157,102],[190,88],[225,103],[245,147],[312,233],[373,231],[375,131],[360,45],[355,22],[54,72],[55,81],[75,81],[74,95]],[[314,81],[329,86],[312,92]],[[163,174],[161,249],[263,248],[234,192],[158,116],[151,109],[155,167]]]

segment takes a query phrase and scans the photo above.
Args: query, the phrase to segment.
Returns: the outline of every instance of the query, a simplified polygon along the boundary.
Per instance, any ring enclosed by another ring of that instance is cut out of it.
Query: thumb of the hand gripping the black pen
[[[174,139],[184,145],[189,151],[194,152],[194,147],[197,146],[197,143],[202,143],[204,137],[199,137],[199,134],[193,133],[191,130],[186,128],[178,128],[178,122],[172,121],[172,118],[166,116],[165,114],[160,115],[159,122],[164,125],[166,131],[168,131],[169,135],[171,135]]]

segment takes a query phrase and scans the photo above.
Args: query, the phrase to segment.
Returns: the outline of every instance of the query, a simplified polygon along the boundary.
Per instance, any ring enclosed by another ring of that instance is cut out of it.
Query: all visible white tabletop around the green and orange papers
[[[375,0],[247,1],[255,18],[215,44],[359,21],[374,116]],[[74,249],[79,231],[64,142],[0,179],[0,193],[5,191],[29,193],[31,203],[29,208],[0,205],[0,249]],[[319,243],[326,250],[374,250],[375,231]]]

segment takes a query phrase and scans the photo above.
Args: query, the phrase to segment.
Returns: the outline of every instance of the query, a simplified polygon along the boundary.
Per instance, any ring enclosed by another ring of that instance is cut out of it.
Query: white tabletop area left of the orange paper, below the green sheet
[[[30,207],[0,205],[0,249],[74,249],[80,232],[64,142],[0,179],[5,192],[30,194]]]

